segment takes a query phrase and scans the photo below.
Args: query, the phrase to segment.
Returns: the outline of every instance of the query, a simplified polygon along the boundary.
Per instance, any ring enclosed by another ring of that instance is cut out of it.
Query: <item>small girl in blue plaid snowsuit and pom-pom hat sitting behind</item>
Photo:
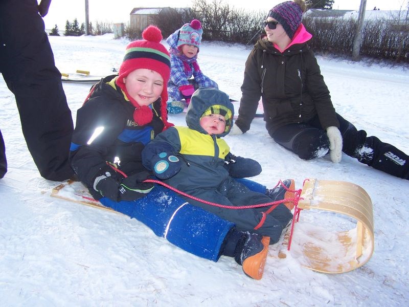
[[[215,81],[203,75],[197,63],[202,33],[200,21],[193,19],[190,24],[183,25],[166,39],[170,46],[171,72],[167,107],[171,114],[183,112],[185,106],[189,105],[193,92],[199,87],[218,88]]]

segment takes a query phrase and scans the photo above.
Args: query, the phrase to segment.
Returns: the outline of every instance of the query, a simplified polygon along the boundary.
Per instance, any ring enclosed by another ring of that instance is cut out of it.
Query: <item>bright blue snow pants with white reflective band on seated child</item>
[[[155,186],[141,199],[129,202],[99,200],[148,226],[157,236],[196,256],[217,261],[224,237],[234,226],[217,215],[193,206],[173,191]]]

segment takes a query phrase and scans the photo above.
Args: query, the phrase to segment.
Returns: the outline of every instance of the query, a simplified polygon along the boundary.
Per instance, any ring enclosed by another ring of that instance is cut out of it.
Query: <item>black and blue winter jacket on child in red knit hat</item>
[[[164,128],[160,114],[161,99],[153,103],[153,120],[138,126],[133,120],[134,106],[125,100],[121,89],[115,85],[116,76],[108,76],[95,85],[89,100],[78,109],[76,127],[70,149],[71,166],[93,194],[97,176],[111,170],[106,162],[131,175],[146,170],[142,165],[142,149]],[[111,81],[110,83],[107,83]],[[92,142],[98,127],[103,127]]]

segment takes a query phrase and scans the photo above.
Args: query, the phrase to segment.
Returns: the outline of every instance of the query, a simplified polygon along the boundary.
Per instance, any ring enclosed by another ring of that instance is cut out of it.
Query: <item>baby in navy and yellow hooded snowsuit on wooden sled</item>
[[[249,190],[234,180],[224,167],[230,148],[221,137],[229,133],[233,114],[228,95],[214,88],[198,89],[186,114],[188,127],[170,127],[146,145],[142,151],[144,165],[172,187],[205,201],[232,207],[271,202],[266,194]],[[293,180],[285,182],[292,190]],[[273,195],[275,200],[291,195],[290,191],[285,195],[284,188],[275,192],[280,194],[280,198]],[[270,244],[278,242],[292,217],[284,204],[262,223],[266,207],[237,210],[187,200],[235,223],[238,230],[268,236]]]

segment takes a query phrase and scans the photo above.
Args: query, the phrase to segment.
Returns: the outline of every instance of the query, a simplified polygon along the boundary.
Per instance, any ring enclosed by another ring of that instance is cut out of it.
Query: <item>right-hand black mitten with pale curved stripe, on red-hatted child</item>
[[[153,183],[143,182],[149,177],[149,172],[142,171],[122,180],[119,186],[119,199],[121,201],[134,201],[142,198],[153,189]]]

